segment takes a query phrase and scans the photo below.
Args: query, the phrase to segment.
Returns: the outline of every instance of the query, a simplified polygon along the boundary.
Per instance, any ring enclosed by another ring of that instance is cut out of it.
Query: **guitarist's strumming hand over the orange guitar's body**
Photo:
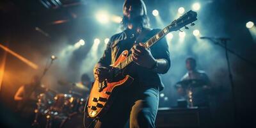
[[[108,79],[108,81],[112,81],[113,79],[113,70],[111,67],[95,67],[94,70],[94,77],[99,82],[104,81],[105,79]]]

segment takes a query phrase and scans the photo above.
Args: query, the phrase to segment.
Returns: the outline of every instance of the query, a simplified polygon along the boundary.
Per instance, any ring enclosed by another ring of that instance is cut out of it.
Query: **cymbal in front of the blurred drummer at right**
[[[186,79],[186,80],[179,81],[178,83],[176,83],[176,86],[182,87],[182,88],[188,88],[189,86],[192,88],[197,88],[197,87],[202,87],[205,84],[207,84],[207,83],[202,79]]]

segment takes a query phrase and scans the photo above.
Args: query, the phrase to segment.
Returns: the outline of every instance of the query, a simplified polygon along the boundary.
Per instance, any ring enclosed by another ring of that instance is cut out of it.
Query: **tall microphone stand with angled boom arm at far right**
[[[238,118],[239,116],[237,116],[237,106],[236,106],[236,100],[235,100],[236,98],[235,98],[235,90],[234,90],[234,81],[233,81],[233,75],[232,75],[231,68],[230,68],[230,61],[229,61],[229,58],[228,58],[228,52],[234,54],[235,56],[237,56],[241,60],[246,61],[247,63],[252,65],[254,68],[255,68],[256,64],[254,62],[252,62],[252,61],[247,60],[246,58],[243,58],[243,56],[240,56],[239,54],[237,54],[236,52],[232,51],[231,49],[228,49],[227,41],[230,40],[229,38],[202,37],[202,39],[211,40],[211,42],[213,42],[214,44],[220,45],[221,47],[223,47],[225,49],[225,55],[226,55],[227,66],[228,66],[228,76],[229,76],[229,79],[230,79],[231,90],[232,90],[232,99],[233,99],[233,106],[234,106],[235,124],[240,126],[239,118]]]

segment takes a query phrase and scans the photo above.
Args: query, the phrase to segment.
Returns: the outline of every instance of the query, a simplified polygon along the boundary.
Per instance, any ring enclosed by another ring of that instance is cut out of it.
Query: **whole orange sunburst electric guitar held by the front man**
[[[164,29],[159,31],[156,35],[152,36],[147,42],[145,42],[145,49],[148,49],[152,45],[156,44],[158,40],[163,38],[165,35],[170,33],[171,31],[180,30],[180,28],[185,27],[188,29],[186,25],[193,23],[196,19],[197,13],[193,11],[189,11],[179,17],[179,19],[174,20],[170,25],[166,26]],[[181,30],[180,30],[181,31]],[[129,86],[134,80],[131,76],[122,76],[122,70],[124,70],[129,63],[132,62],[132,56],[129,54],[129,51],[123,51],[122,54],[118,57],[116,62],[113,65],[113,73],[114,79],[109,82],[108,79],[99,82],[97,80],[94,81],[92,90],[90,92],[90,96],[88,97],[88,101],[86,103],[84,114],[87,118],[98,119],[106,111],[108,111],[109,107],[111,107],[111,102],[113,101],[113,90],[115,90],[118,86]]]

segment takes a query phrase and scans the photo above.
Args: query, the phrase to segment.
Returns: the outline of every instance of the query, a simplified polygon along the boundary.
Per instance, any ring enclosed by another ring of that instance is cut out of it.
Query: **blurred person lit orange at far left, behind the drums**
[[[41,86],[38,76],[33,76],[31,83],[20,86],[15,93],[14,100],[17,101],[17,112],[22,118],[27,118],[29,121],[33,119],[37,96],[44,92],[45,88]]]

